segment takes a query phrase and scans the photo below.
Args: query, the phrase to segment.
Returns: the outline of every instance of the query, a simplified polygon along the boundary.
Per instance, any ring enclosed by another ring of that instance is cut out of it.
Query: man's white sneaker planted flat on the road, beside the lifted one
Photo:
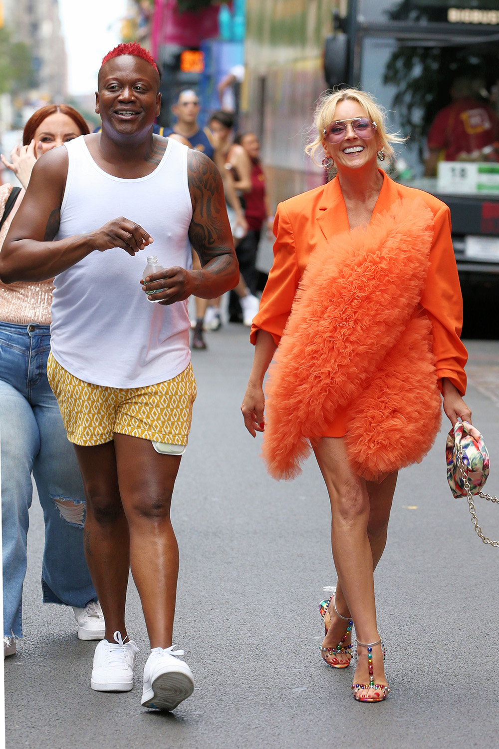
[[[138,647],[133,640],[123,643],[114,632],[114,643],[101,640],[94,654],[91,687],[97,692],[129,692],[133,686],[133,667]]]

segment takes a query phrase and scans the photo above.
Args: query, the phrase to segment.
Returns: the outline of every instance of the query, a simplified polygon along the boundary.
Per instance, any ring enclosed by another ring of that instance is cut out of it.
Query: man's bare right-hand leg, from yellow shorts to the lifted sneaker
[[[129,524],[130,566],[151,648],[171,646],[179,552],[170,506],[180,457],[148,440],[114,434],[117,475]]]

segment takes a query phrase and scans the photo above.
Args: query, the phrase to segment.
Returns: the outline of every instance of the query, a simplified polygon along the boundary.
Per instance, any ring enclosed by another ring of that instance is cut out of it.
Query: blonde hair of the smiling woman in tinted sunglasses
[[[387,133],[385,109],[379,106],[370,94],[359,91],[358,88],[340,88],[336,91],[328,91],[327,94],[322,94],[317,100],[311,128],[312,137],[315,137],[315,139],[305,147],[305,152],[312,158],[313,162],[319,164],[322,161],[323,131],[327,129],[331,122],[334,122],[334,112],[340,101],[356,101],[367,113],[370,121],[376,122],[376,132],[382,142],[382,149],[385,151],[388,161],[392,162],[394,160],[394,149],[391,144],[405,143],[406,139],[398,134]],[[321,155],[320,160],[316,159],[318,154]]]

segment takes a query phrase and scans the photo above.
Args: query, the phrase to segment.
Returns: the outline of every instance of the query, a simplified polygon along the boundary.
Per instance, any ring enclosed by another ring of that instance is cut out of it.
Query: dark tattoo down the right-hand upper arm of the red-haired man
[[[221,246],[221,237],[226,234],[223,219],[225,209],[224,188],[217,167],[199,151],[189,150],[189,188],[195,203],[195,211],[189,226],[189,240],[198,252],[201,266],[214,258],[220,263],[213,267],[223,273],[232,264],[232,248]]]

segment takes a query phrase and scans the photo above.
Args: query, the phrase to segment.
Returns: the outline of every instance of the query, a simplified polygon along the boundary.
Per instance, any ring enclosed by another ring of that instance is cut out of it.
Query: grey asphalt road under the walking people
[[[322,664],[317,604],[334,584],[328,498],[313,459],[275,482],[245,432],[239,404],[252,348],[240,326],[195,352],[198,401],[174,495],[181,569],[175,638],[195,674],[171,715],[140,706],[147,637],[129,585],[127,625],[141,649],[127,694],[91,691],[95,643],[70,609],[43,605],[43,521],[31,510],[24,633],[5,661],[7,748],[453,749],[499,745],[499,550],[474,533],[444,464],[446,425],[419,466],[399,477],[388,546],[376,572],[391,694],[352,698],[352,668]],[[474,342],[468,402],[499,491],[499,344]],[[421,422],[421,438],[425,425]],[[499,508],[481,501],[485,533]]]

